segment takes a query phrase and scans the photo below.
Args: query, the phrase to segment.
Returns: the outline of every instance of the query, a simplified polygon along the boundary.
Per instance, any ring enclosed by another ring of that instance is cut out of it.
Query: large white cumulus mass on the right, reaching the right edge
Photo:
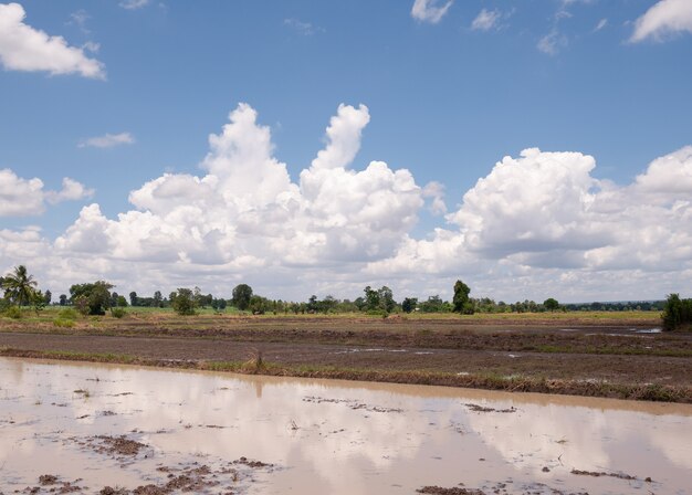
[[[526,293],[570,281],[577,285],[564,293],[581,298],[616,291],[616,281],[623,291],[660,287],[658,297],[684,285],[692,272],[692,147],[657,158],[627,186],[595,179],[595,167],[579,152],[532,148],[505,157],[447,215],[450,228],[409,238],[367,271],[461,271],[491,294],[502,294],[507,281]]]

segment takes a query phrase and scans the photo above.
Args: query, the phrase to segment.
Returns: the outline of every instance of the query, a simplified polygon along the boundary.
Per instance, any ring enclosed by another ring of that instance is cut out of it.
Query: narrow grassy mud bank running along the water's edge
[[[130,343],[134,344],[134,343]],[[143,343],[138,343],[141,345]],[[160,347],[155,347],[157,354],[161,351]],[[284,349],[290,351],[290,349]],[[464,387],[464,388],[478,388],[487,390],[505,390],[512,392],[541,392],[541,393],[556,393],[556,394],[572,394],[572,396],[585,396],[585,397],[607,397],[616,399],[629,399],[629,400],[649,400],[649,401],[665,401],[665,402],[680,402],[692,403],[692,388],[686,380],[690,375],[682,367],[680,370],[680,383],[652,383],[651,381],[637,381],[636,377],[640,376],[643,371],[641,366],[636,364],[629,364],[629,375],[622,373],[619,376],[618,381],[611,381],[607,379],[593,378],[594,370],[589,370],[589,377],[591,378],[546,378],[551,370],[543,359],[538,364],[530,365],[530,361],[525,361],[522,369],[524,373],[504,371],[500,375],[497,371],[487,371],[487,369],[481,369],[478,371],[430,371],[410,368],[411,362],[406,361],[401,354],[398,359],[401,359],[400,367],[397,364],[389,362],[388,368],[382,368],[381,364],[370,361],[369,365],[360,364],[361,367],[354,367],[353,361],[349,367],[339,367],[334,365],[329,360],[331,355],[319,356],[314,352],[311,355],[313,360],[302,359],[300,364],[281,364],[276,361],[268,361],[263,352],[256,354],[256,349],[251,350],[252,356],[243,361],[232,360],[207,360],[207,359],[170,359],[170,358],[151,358],[140,357],[138,355],[124,355],[113,352],[75,352],[75,351],[61,351],[61,350],[24,350],[17,348],[0,347],[0,356],[23,357],[23,358],[49,358],[49,359],[62,359],[62,360],[81,360],[92,362],[120,362],[129,365],[140,365],[149,367],[160,368],[179,368],[179,369],[200,369],[212,371],[231,371],[247,375],[266,375],[266,376],[283,376],[283,377],[304,377],[304,378],[329,378],[342,380],[360,380],[360,381],[379,381],[391,383],[412,383],[412,385],[430,385],[430,386],[445,386],[445,387]],[[186,354],[188,355],[188,354]],[[549,362],[555,365],[565,366],[565,362],[559,359],[559,355],[549,355]],[[319,358],[327,359],[328,364],[315,364]],[[478,358],[478,357],[476,357]],[[462,369],[469,369],[469,360],[464,359],[464,356],[455,356],[458,366]],[[506,359],[504,357],[500,358]],[[485,362],[492,361],[493,357],[485,359]],[[513,361],[516,359],[513,359]],[[608,373],[612,370],[608,362],[605,362],[602,358],[599,362],[608,369]],[[660,366],[657,359],[650,364],[656,369]],[[406,366],[403,366],[406,362]],[[527,366],[528,365],[528,366]],[[584,366],[585,362],[580,361]],[[409,369],[407,369],[407,367]],[[503,369],[501,365],[495,365],[492,369]],[[574,372],[574,370],[572,370]],[[669,379],[670,376],[664,377]],[[670,380],[669,380],[670,381]]]

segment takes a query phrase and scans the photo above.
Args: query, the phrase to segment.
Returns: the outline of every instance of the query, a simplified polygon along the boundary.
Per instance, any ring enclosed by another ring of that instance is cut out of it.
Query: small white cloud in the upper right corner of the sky
[[[692,33],[692,1],[661,0],[637,19],[629,41],[637,43],[648,38],[661,41],[684,31]]]

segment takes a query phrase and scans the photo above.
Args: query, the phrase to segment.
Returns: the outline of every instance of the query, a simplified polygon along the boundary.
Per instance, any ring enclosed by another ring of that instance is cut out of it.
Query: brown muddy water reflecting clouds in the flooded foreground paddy
[[[120,435],[141,446],[109,452]],[[683,494],[692,407],[0,358],[0,493],[200,466],[198,493]]]

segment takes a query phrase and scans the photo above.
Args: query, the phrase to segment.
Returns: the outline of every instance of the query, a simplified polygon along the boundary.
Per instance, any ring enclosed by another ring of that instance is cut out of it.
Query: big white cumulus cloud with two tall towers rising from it
[[[422,190],[408,170],[350,165],[369,122],[365,105],[339,105],[326,145],[300,182],[273,156],[269,127],[240,104],[209,136],[202,177],[166,173],[132,191],[137,210],[107,219],[97,204],[56,241],[63,252],[126,261],[265,266],[364,263],[390,255],[416,223]]]

